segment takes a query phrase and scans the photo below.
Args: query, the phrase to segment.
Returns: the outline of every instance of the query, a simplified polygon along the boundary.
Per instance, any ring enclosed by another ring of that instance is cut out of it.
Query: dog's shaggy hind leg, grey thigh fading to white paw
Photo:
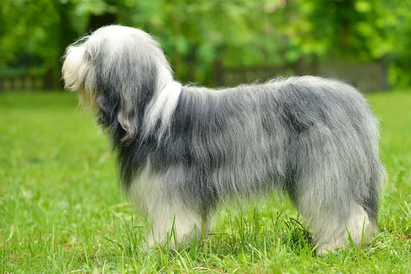
[[[292,151],[298,167],[290,196],[310,225],[320,256],[351,240],[359,247],[377,226],[373,212],[377,211],[374,188],[378,182],[370,179],[376,169],[370,167],[369,155],[359,141],[346,140],[332,137],[327,129],[312,129],[295,141]]]

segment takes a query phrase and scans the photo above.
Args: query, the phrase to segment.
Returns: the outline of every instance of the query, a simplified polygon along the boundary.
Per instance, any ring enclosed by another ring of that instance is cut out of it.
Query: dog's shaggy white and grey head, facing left
[[[64,87],[106,127],[120,123],[124,140],[137,134],[145,105],[173,81],[158,42],[132,27],[110,25],[79,39],[66,49]]]

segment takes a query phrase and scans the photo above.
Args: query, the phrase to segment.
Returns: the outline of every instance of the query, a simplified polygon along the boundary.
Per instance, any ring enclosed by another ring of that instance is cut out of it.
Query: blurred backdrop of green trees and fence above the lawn
[[[156,36],[182,82],[325,75],[410,86],[411,0],[1,0],[0,90],[62,87],[67,45],[119,23]]]

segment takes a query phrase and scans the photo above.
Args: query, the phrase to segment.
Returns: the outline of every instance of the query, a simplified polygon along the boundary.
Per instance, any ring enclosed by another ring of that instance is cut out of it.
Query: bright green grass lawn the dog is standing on
[[[0,272],[410,273],[411,92],[369,100],[389,175],[381,233],[363,249],[317,258],[281,197],[223,208],[216,234],[187,249],[142,252],[142,218],[121,196],[107,140],[76,110],[75,94],[0,95]]]

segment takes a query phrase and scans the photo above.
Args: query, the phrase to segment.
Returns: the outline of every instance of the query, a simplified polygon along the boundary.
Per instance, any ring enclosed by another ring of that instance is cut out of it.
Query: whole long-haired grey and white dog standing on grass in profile
[[[221,201],[273,190],[288,193],[319,255],[377,229],[377,119],[353,86],[312,76],[184,86],[158,42],[119,25],[69,46],[62,75],[108,132],[121,186],[151,218],[149,245],[173,224],[184,245],[212,229]]]

